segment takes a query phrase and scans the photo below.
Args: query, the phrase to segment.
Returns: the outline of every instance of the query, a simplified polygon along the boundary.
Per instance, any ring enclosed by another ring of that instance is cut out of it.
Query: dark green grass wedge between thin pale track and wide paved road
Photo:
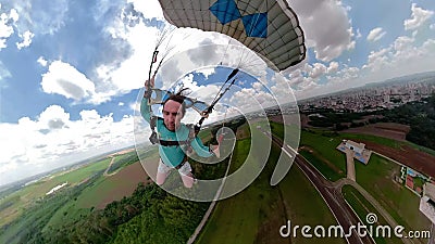
[[[253,136],[258,130],[252,130]],[[268,140],[264,138],[264,140]],[[249,140],[238,141],[233,154],[233,170],[245,162]],[[264,150],[263,150],[264,151]],[[331,224],[335,219],[311,182],[293,167],[277,185],[270,179],[281,150],[272,146],[269,162],[261,175],[246,190],[220,201],[196,243],[288,243],[279,235],[287,219],[295,224]],[[312,243],[297,237],[291,243]],[[345,243],[339,239],[315,240],[316,243]]]

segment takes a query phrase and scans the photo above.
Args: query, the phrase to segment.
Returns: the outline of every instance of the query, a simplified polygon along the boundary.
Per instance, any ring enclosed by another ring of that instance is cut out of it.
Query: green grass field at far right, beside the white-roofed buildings
[[[372,154],[368,165],[356,164],[357,182],[363,187],[407,229],[428,230],[430,221],[420,213],[420,197],[394,181],[400,166],[376,154]]]

